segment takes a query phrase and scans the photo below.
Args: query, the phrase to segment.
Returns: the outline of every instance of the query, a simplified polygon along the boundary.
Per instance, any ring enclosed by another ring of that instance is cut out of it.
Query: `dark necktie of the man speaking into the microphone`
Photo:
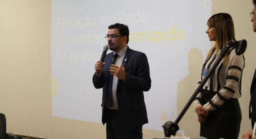
[[[113,57],[113,60],[111,62],[111,64],[115,64],[116,63],[116,58],[118,57],[118,54],[116,53]],[[108,87],[107,87],[107,103],[108,106],[111,108],[113,105],[113,100],[112,100],[112,83],[113,83],[113,75],[110,74],[109,72],[109,76],[108,76]]]

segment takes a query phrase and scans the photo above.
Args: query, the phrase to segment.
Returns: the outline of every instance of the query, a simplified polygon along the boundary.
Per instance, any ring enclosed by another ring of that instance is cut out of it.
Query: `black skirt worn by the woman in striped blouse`
[[[209,102],[216,92],[203,90],[202,105]],[[238,99],[230,98],[214,111],[210,111],[205,124],[200,125],[200,136],[208,139],[237,139],[242,114]]]

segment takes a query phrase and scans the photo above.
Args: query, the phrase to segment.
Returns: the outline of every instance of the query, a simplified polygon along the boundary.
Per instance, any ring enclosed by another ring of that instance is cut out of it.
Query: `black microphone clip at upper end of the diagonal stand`
[[[241,55],[245,52],[247,41],[246,40],[240,40],[236,41],[235,39],[231,39],[226,46],[231,46],[236,49],[236,54]]]

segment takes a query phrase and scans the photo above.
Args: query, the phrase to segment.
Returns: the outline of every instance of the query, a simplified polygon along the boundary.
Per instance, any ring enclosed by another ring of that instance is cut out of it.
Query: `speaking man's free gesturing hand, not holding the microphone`
[[[119,78],[120,80],[125,80],[126,73],[125,73],[123,63],[121,63],[121,67],[118,67],[116,65],[111,65],[111,67],[109,68],[109,71],[110,71],[110,74],[116,75],[116,77]]]

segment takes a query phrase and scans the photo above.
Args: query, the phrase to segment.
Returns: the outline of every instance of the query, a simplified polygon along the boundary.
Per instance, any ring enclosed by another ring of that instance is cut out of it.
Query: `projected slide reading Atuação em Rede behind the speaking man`
[[[143,128],[162,130],[177,118],[177,84],[190,74],[189,52],[205,58],[211,47],[205,33],[210,16],[211,0],[52,0],[53,116],[101,122],[94,64],[107,45],[108,26],[123,23],[130,30],[128,46],[145,53],[150,66],[151,89],[144,92],[149,123]]]

